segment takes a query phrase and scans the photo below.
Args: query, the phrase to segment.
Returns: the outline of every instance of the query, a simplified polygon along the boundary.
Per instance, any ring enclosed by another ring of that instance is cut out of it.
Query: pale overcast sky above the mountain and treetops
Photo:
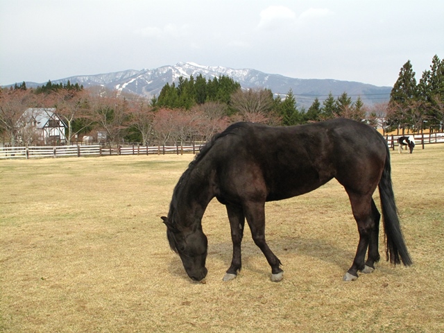
[[[0,0],[0,85],[196,62],[391,86],[435,54],[441,0]]]

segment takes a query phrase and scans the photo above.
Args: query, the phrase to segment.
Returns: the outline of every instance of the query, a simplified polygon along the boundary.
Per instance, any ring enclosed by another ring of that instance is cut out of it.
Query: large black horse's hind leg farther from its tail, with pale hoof
[[[350,269],[345,273],[343,280],[344,281],[353,281],[358,278],[358,271],[362,271],[365,269],[365,259],[366,252],[368,248],[368,244],[370,243],[370,239],[373,236],[373,232],[375,231],[375,220],[373,219],[372,214],[372,197],[371,195],[359,195],[355,194],[351,191],[347,191],[348,196],[350,197],[350,203],[352,204],[352,212],[353,216],[355,216],[355,220],[358,225],[359,231],[359,243],[355,255],[355,259],[353,260],[353,264]],[[372,253],[374,251],[372,244]]]

